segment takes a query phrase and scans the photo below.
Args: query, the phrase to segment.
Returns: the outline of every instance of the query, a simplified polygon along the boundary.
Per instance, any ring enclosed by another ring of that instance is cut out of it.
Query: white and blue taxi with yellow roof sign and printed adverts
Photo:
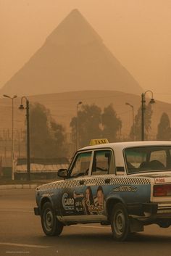
[[[79,149],[59,181],[38,186],[36,215],[47,236],[77,223],[111,225],[117,241],[156,223],[171,225],[171,141],[105,143]]]

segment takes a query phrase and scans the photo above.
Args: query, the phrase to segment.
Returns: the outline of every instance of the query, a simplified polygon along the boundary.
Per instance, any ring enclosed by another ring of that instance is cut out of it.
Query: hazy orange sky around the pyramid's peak
[[[75,8],[144,90],[171,103],[170,0],[0,0],[0,87]]]

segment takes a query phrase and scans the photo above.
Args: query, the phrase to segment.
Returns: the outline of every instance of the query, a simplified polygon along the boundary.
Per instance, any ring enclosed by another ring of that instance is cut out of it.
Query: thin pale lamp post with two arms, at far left
[[[10,97],[4,94],[3,96],[12,99],[12,181],[14,181],[14,99],[17,98],[17,95]]]

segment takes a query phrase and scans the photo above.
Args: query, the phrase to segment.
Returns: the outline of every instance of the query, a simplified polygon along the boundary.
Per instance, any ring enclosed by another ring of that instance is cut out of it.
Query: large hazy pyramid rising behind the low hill
[[[1,88],[1,94],[36,95],[64,91],[143,89],[103,44],[77,9]]]

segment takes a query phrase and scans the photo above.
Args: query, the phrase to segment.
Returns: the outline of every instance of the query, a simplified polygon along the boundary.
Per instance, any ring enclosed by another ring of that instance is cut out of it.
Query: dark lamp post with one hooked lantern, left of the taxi
[[[25,99],[26,107],[23,106],[22,100]],[[26,123],[27,123],[27,171],[28,181],[30,181],[30,127],[29,127],[29,100],[27,97],[22,96],[20,110],[26,110]]]

